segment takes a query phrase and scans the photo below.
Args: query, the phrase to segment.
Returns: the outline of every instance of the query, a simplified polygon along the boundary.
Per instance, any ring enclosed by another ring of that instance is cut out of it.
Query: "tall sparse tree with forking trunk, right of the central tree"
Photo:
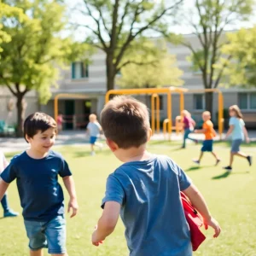
[[[238,21],[247,20],[252,9],[253,0],[195,0],[195,14],[189,10],[191,20],[187,21],[201,47],[185,40],[183,45],[191,50],[191,61],[194,68],[201,71],[205,89],[218,87],[228,63],[221,69],[214,68],[222,57],[221,47],[228,44],[224,30],[236,26]],[[212,112],[212,93],[206,93],[206,108]]]

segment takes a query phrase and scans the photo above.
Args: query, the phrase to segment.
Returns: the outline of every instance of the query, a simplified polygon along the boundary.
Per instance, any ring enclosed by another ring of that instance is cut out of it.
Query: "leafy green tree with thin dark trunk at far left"
[[[13,3],[8,0],[4,3]],[[22,136],[24,120],[24,96],[30,90],[37,90],[41,102],[50,97],[50,86],[56,85],[58,67],[68,57],[74,57],[73,42],[61,38],[66,26],[65,6],[60,1],[17,1],[28,18],[3,15],[3,32],[11,41],[2,44],[0,63],[0,84],[7,86],[16,97],[17,135]],[[75,47],[76,48],[76,47]],[[76,49],[75,53],[84,50]]]

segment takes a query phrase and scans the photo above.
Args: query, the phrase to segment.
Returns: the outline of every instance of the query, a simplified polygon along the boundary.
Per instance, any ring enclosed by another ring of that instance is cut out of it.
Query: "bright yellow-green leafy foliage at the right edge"
[[[223,84],[225,86],[250,87],[256,84],[256,26],[251,29],[241,29],[228,33],[230,44],[225,44],[221,51],[224,56],[215,66],[224,69]]]

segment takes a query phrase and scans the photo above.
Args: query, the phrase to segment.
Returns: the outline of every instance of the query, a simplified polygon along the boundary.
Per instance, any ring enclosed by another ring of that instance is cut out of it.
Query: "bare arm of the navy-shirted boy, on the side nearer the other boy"
[[[77,201],[77,195],[76,195],[76,189],[75,189],[75,184],[73,181],[72,176],[66,176],[63,177],[63,183],[67,189],[67,192],[70,196],[70,200],[68,202],[68,207],[67,207],[67,212],[70,212],[70,209],[73,209],[73,213],[71,214],[70,218],[73,218],[78,210],[79,210],[79,205]]]

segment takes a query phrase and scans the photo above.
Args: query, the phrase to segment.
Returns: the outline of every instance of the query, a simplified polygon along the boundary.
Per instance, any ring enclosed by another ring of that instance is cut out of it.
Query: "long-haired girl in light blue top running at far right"
[[[244,138],[246,142],[249,143],[250,139],[248,137],[247,128],[242,119],[242,114],[238,106],[233,105],[230,107],[230,129],[226,134],[226,137],[232,136],[232,146],[230,151],[230,166],[224,167],[225,170],[232,171],[232,165],[234,160],[234,155],[241,156],[247,159],[249,166],[252,166],[252,156],[244,154],[240,151],[240,145]]]

